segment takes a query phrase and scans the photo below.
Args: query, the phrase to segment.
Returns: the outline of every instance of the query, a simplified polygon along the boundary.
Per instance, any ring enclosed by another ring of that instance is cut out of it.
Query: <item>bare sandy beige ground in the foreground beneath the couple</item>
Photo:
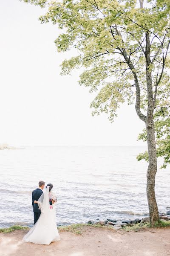
[[[25,230],[0,234],[0,256],[170,256],[170,227],[138,232],[83,227],[50,245],[22,243]]]

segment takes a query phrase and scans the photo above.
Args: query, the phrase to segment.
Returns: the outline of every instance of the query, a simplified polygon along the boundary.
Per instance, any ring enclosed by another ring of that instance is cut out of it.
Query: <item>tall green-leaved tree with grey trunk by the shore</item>
[[[169,0],[23,0],[48,7],[42,23],[52,21],[63,33],[56,39],[59,52],[72,47],[78,55],[62,63],[62,74],[83,67],[79,84],[98,94],[92,114],[107,113],[111,122],[120,103],[135,102],[136,114],[145,123],[147,140],[147,201],[150,224],[159,221],[155,197],[157,172],[155,122],[158,109],[170,106]],[[169,140],[169,137],[167,137]],[[161,145],[161,141],[159,141]]]

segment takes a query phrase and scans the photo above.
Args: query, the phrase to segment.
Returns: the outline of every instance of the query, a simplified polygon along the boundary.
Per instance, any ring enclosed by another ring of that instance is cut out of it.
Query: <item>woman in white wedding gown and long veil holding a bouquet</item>
[[[36,224],[23,237],[24,242],[50,244],[51,242],[60,240],[57,230],[55,210],[57,197],[51,192],[52,188],[53,185],[49,183],[38,201],[34,201],[35,204],[38,204],[41,214]]]

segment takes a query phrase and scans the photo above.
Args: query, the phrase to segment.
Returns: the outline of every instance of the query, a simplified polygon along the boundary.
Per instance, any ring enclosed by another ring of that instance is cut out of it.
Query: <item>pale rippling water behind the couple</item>
[[[144,147],[27,147],[0,151],[0,227],[31,226],[31,192],[53,183],[57,225],[148,215]],[[160,164],[159,164],[160,166]],[[170,206],[170,171],[156,174],[159,211]]]

